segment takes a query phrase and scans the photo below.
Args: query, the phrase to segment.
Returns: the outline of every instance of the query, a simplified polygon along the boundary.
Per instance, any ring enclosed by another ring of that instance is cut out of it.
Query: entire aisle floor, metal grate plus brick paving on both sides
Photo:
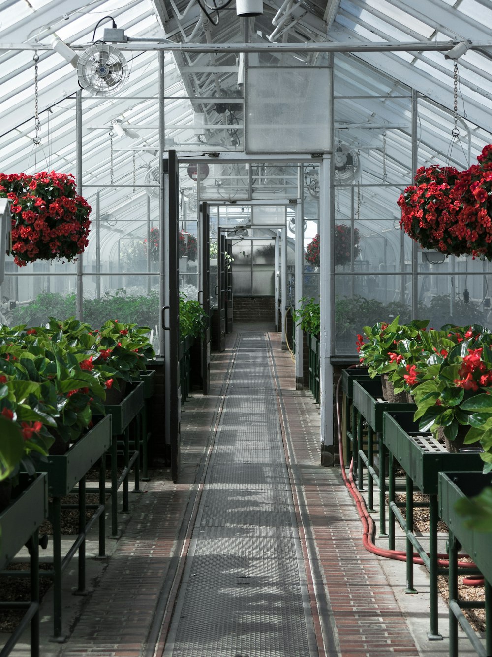
[[[340,472],[319,465],[319,409],[294,390],[279,334],[236,328],[211,394],[183,407],[182,481],[156,468],[132,496],[86,597],[71,595],[74,564],[64,644],[49,641],[45,599],[41,656],[447,655],[426,640],[426,576],[403,594],[405,564],[363,549]]]

